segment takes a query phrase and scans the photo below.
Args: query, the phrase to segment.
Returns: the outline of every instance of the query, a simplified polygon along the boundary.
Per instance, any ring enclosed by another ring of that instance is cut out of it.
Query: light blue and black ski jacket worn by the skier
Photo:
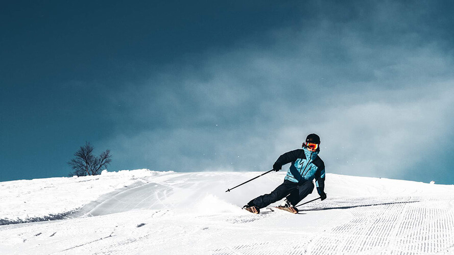
[[[318,153],[319,150],[310,151],[302,148],[282,154],[276,160],[277,164],[283,166],[292,162],[284,180],[302,183],[305,181],[312,182],[315,179],[317,192],[323,193],[325,188],[325,163],[318,157]]]

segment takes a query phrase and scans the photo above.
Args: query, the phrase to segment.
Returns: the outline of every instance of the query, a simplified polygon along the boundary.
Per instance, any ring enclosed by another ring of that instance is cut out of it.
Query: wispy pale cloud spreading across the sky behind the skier
[[[421,147],[452,137],[452,58],[411,28],[422,14],[405,22],[384,10],[372,27],[321,19],[154,71],[112,95],[124,123],[107,143],[140,167],[268,170],[318,133],[329,172],[423,174],[440,151]]]

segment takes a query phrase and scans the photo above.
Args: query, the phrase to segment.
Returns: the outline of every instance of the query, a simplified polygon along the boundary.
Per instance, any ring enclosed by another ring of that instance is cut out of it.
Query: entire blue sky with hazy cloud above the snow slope
[[[309,133],[333,173],[454,184],[449,1],[14,1],[0,8],[0,181],[266,171]]]

